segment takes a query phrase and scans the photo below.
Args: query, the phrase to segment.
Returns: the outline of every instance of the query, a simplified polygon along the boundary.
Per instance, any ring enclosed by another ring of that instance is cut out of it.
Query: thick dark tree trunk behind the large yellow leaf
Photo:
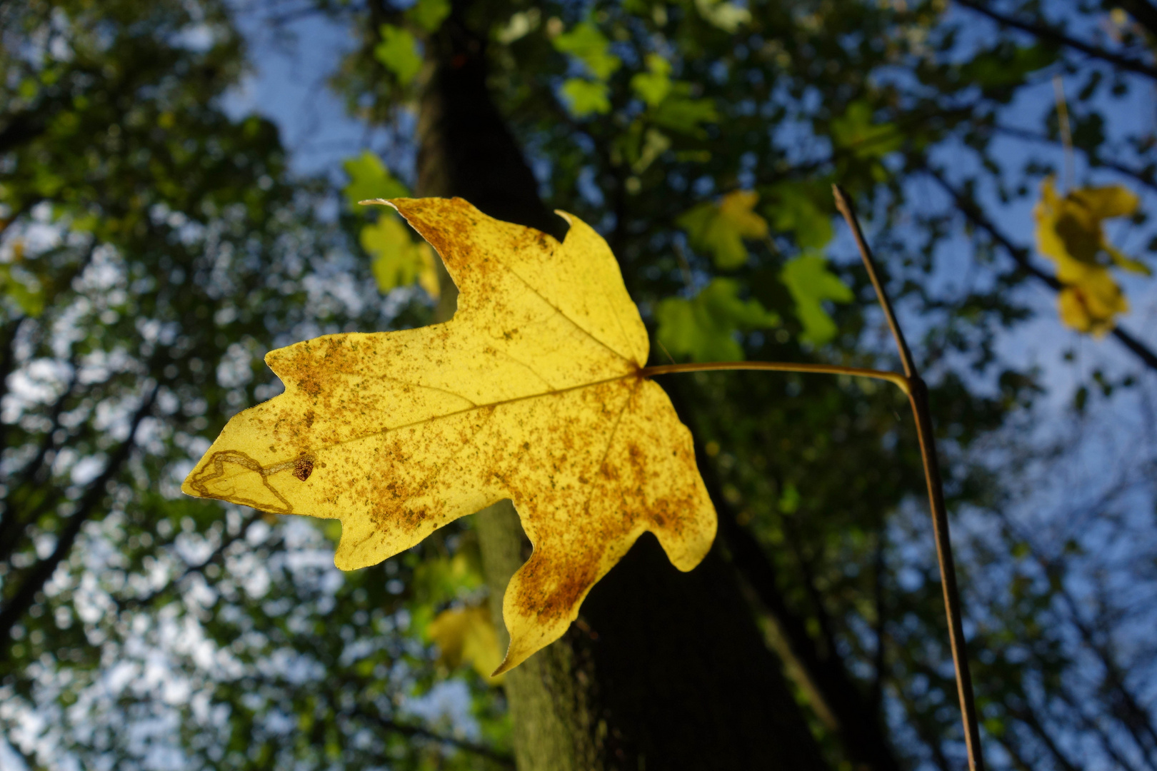
[[[418,193],[562,236],[486,90],[485,38],[460,3],[427,50]],[[443,276],[441,318],[455,306]],[[530,554],[509,501],[474,517],[500,630],[507,581]],[[504,643],[503,643],[504,644]],[[643,535],[562,639],[507,674],[521,771],[826,769],[730,566],[680,573]]]

